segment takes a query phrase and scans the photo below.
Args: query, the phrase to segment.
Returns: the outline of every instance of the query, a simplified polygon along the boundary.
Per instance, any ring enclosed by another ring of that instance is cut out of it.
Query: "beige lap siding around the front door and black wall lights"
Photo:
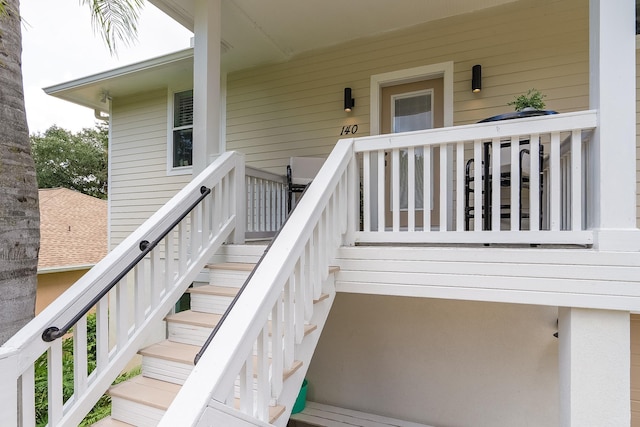
[[[520,1],[231,73],[227,147],[274,172],[290,156],[327,155],[343,126],[369,134],[372,75],[447,61],[455,124],[510,111],[507,102],[532,87],[550,109],[586,109],[587,15],[586,0]],[[482,65],[480,94],[470,90],[474,64]],[[352,113],[342,109],[345,87],[353,89]]]

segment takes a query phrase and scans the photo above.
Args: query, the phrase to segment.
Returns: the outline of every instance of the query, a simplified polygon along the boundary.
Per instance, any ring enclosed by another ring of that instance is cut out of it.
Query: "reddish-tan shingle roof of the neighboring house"
[[[40,197],[38,271],[92,265],[107,254],[107,201],[66,188]]]

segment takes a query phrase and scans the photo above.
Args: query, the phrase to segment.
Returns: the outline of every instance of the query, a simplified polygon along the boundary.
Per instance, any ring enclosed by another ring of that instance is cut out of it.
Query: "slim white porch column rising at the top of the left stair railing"
[[[196,0],[193,55],[193,175],[224,151],[220,139],[221,0]]]

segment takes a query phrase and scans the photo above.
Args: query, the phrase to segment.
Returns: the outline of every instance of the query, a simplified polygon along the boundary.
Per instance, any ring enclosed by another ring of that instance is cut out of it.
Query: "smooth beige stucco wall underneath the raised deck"
[[[557,316],[557,307],[339,293],[309,398],[434,426],[558,426]]]

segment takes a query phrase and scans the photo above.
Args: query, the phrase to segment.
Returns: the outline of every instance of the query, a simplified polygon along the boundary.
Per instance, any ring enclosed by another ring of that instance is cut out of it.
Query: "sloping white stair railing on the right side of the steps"
[[[323,284],[328,279],[332,259],[355,228],[355,217],[351,218],[348,212],[357,209],[359,203],[357,193],[353,193],[357,186],[352,185],[356,174],[353,139],[340,140],[256,267],[160,426],[211,421],[211,412],[216,412],[217,404],[233,406],[234,383],[238,378],[240,411],[259,422],[269,421],[268,403],[282,398],[282,373],[296,357],[305,323],[314,318],[313,301],[325,292]],[[270,335],[282,339],[271,339]],[[253,372],[254,347],[256,372]],[[266,362],[268,347],[272,353],[270,363]],[[306,371],[306,367],[301,370]],[[252,387],[243,384],[254,376],[255,399]],[[293,387],[296,394],[302,376],[297,379],[299,383]],[[290,406],[285,411],[290,412]]]

